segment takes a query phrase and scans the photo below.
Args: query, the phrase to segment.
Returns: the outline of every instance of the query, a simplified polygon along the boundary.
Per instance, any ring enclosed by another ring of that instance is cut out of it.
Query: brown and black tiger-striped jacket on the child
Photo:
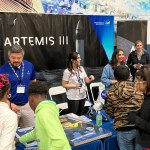
[[[129,81],[114,84],[106,97],[106,113],[114,118],[115,128],[129,125],[128,112],[139,110],[144,100],[143,93],[136,92],[134,83]]]

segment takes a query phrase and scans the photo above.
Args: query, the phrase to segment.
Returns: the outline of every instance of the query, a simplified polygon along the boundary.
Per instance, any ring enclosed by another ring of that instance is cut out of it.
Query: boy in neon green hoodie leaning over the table
[[[71,150],[59,120],[56,103],[47,99],[48,86],[37,81],[29,85],[29,105],[35,112],[35,129],[16,139],[16,143],[37,140],[40,150]]]

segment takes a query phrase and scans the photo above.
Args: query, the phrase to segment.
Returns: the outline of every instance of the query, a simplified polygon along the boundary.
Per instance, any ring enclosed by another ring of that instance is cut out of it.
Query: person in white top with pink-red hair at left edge
[[[7,100],[10,83],[6,75],[0,74],[0,150],[13,150],[17,129],[17,115],[10,109]]]

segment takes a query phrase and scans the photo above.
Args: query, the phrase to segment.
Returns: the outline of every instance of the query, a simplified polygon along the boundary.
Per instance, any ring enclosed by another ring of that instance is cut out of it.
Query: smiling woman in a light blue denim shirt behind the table
[[[114,69],[116,66],[125,65],[123,62],[124,51],[121,49],[115,50],[112,54],[110,62],[104,67],[101,82],[105,85],[106,90],[108,90],[113,84],[117,82],[114,77]]]

